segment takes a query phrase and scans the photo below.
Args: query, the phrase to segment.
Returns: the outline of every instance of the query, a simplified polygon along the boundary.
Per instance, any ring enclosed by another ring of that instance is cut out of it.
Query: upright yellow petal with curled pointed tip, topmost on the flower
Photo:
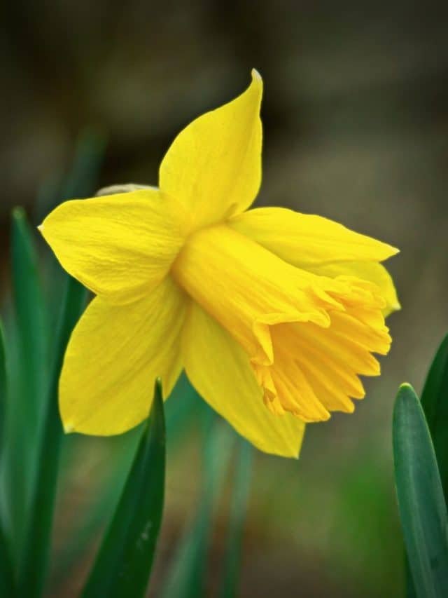
[[[193,227],[248,208],[261,182],[262,80],[235,100],[207,112],[176,137],[160,165],[160,189],[179,198]]]

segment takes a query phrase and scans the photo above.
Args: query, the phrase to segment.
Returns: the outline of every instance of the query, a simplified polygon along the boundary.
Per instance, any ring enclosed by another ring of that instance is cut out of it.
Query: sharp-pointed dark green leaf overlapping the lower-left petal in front
[[[84,598],[145,595],[162,522],[164,492],[165,417],[158,380],[151,416],[87,580]]]

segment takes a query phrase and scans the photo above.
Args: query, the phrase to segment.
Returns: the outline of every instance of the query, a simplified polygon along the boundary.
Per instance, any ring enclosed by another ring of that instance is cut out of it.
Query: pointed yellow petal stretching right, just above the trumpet
[[[382,261],[398,252],[327,218],[286,208],[248,210],[232,218],[229,225],[304,269],[339,261]]]

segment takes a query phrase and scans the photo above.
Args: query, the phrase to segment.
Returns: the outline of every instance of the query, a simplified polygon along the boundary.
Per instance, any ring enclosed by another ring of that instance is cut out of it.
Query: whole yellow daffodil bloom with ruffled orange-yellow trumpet
[[[92,290],[59,386],[66,431],[146,418],[182,369],[263,451],[297,456],[304,423],[352,412],[399,308],[386,245],[284,208],[246,211],[261,181],[262,80],[176,137],[159,188],[68,201],[41,232]]]

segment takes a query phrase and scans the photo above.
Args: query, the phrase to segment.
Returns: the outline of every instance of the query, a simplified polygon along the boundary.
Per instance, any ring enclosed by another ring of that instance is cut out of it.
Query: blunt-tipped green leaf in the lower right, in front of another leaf
[[[398,508],[416,595],[448,596],[448,516],[423,409],[403,384],[393,412]]]

